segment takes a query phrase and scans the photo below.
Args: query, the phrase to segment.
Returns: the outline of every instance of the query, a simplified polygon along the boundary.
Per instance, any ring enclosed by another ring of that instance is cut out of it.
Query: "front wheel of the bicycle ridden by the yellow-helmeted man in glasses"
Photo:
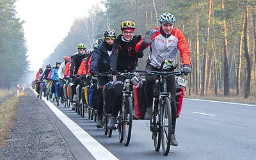
[[[123,109],[123,143],[125,146],[129,145],[132,133],[132,99],[126,97]]]

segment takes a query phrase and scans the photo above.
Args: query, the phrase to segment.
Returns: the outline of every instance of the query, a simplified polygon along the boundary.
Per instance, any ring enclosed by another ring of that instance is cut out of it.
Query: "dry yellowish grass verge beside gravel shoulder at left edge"
[[[20,92],[24,96],[24,92]],[[17,116],[17,107],[19,106],[20,97],[14,95],[0,106],[0,148],[6,147],[6,139],[10,136],[15,118]]]

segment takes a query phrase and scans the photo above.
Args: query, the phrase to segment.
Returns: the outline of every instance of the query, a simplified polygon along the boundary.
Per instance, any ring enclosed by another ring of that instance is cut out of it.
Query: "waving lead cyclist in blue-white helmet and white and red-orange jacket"
[[[189,47],[185,36],[178,28],[174,28],[175,17],[170,13],[163,13],[159,16],[160,27],[147,31],[145,36],[136,45],[136,51],[143,51],[146,47],[150,46],[149,56],[147,59],[146,70],[159,70],[162,61],[168,60],[175,63],[175,56],[177,50],[180,51],[182,58],[183,68],[185,73],[191,72],[191,62],[189,58]],[[147,101],[147,111],[145,119],[152,118],[152,104],[154,97],[154,83],[157,75],[146,76],[145,82],[145,95]],[[171,145],[177,146],[178,142],[175,138],[175,124],[177,118],[177,108],[175,106],[175,77],[170,76],[167,79],[167,90],[171,93],[171,106],[172,106],[172,136]]]

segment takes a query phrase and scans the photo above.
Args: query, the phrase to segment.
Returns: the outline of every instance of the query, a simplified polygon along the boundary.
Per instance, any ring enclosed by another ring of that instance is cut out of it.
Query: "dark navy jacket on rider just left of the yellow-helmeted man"
[[[108,72],[110,69],[110,57],[106,48],[106,42],[99,44],[93,51],[90,71]]]

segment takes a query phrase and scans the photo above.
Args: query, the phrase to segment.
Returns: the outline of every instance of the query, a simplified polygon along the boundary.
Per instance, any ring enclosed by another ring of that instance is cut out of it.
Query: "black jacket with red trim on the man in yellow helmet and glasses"
[[[135,46],[138,42],[140,42],[140,40],[140,35],[134,35],[130,42],[124,42],[122,40],[122,35],[118,35],[114,40],[110,58],[110,67],[114,70],[126,70],[129,68],[135,68],[138,65],[138,58],[143,57],[143,51],[135,51]]]

